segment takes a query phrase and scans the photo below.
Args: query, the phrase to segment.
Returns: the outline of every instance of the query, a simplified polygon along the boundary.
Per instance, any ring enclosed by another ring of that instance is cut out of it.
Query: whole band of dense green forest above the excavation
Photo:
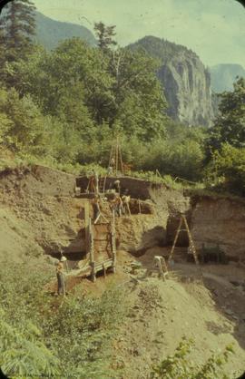
[[[0,18],[2,157],[106,168],[119,135],[134,171],[244,194],[244,78],[220,93],[211,128],[186,127],[166,114],[161,62],[142,48],[119,47],[115,26],[94,25],[95,47],[72,38],[49,52],[34,44],[34,11],[31,1],[17,0]]]

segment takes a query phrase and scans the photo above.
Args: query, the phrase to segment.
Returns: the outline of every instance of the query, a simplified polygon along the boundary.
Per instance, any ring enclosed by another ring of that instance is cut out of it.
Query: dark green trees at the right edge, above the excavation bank
[[[220,114],[207,140],[207,183],[216,190],[245,195],[245,79],[220,94]]]

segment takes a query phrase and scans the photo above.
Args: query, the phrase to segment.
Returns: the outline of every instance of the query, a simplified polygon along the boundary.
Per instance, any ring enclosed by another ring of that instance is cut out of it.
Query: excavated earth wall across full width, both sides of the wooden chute
[[[42,166],[5,170],[0,176],[0,255],[15,257],[26,248],[43,251],[54,258],[60,249],[71,262],[83,258],[84,192],[88,178],[75,178]],[[108,178],[106,190],[114,180]],[[198,250],[219,248],[229,259],[245,260],[245,202],[217,196],[193,196],[159,183],[129,177],[120,178],[121,189],[132,197],[132,216],[116,218],[117,249],[141,255],[148,248],[171,246],[184,213]],[[105,216],[107,210],[105,209]],[[93,217],[93,213],[91,214]],[[188,248],[181,232],[177,246]],[[72,264],[72,263],[71,263]]]

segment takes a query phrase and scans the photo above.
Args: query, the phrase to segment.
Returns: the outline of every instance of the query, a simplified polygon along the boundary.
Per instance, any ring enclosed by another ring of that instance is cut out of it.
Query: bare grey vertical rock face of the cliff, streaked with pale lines
[[[173,120],[187,125],[211,125],[210,73],[197,56],[172,56],[168,63],[162,65],[159,78]]]

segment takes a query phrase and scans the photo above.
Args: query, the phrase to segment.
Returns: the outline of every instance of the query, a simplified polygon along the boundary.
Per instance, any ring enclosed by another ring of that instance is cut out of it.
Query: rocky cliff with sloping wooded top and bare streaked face
[[[211,124],[211,75],[196,53],[152,36],[142,38],[130,48],[143,48],[161,61],[158,77],[173,120],[187,125]]]

